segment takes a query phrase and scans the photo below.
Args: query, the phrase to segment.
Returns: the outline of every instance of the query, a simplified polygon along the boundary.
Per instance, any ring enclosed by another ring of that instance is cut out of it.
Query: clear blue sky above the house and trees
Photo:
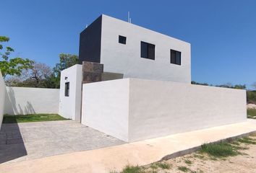
[[[14,56],[54,66],[59,53],[78,55],[79,35],[101,14],[191,43],[192,80],[256,81],[256,1],[1,0],[0,35]]]

